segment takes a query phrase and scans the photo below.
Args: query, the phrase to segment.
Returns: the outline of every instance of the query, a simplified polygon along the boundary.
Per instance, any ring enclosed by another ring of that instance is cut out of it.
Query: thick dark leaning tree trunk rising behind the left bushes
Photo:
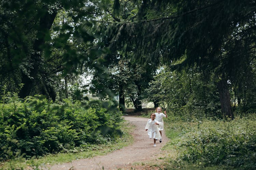
[[[39,66],[42,64],[41,61],[41,55],[43,53],[43,49],[41,46],[45,43],[45,35],[52,27],[53,21],[56,17],[57,12],[53,12],[52,14],[49,14],[47,12],[47,8],[45,9],[45,15],[43,15],[40,18],[39,28],[37,32],[37,36],[35,38],[34,44],[33,44],[33,51],[34,53],[31,54],[32,59],[32,69],[30,70],[30,74],[24,74],[22,73],[22,82],[24,85],[22,89],[19,92],[19,97],[25,98],[26,96],[30,95],[30,92],[32,90],[32,87],[34,86],[34,82],[39,82],[37,80],[39,73]],[[47,87],[50,89],[50,93],[52,93],[53,88]],[[49,96],[53,97],[52,99],[55,100],[54,94],[49,94]],[[56,97],[56,96],[55,96]]]

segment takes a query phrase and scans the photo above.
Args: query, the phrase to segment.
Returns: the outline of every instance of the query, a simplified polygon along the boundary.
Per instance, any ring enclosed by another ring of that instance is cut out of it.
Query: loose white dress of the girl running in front
[[[147,129],[147,134],[150,137],[150,139],[161,139],[161,134],[159,132],[158,126],[155,123],[159,123],[161,124],[161,122],[158,122],[156,119],[155,120],[151,120],[148,119],[147,124],[145,126],[145,129]]]

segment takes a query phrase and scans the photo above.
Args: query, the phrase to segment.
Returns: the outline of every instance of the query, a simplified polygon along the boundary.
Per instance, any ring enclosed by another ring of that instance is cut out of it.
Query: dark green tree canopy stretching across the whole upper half
[[[79,75],[89,73],[91,92],[119,95],[121,105],[130,98],[139,108],[165,66],[203,75],[229,117],[236,109],[231,98],[244,111],[255,108],[248,96],[255,93],[252,0],[3,0],[0,12],[1,86],[21,98],[62,100]],[[150,100],[157,104],[162,90],[154,91]]]

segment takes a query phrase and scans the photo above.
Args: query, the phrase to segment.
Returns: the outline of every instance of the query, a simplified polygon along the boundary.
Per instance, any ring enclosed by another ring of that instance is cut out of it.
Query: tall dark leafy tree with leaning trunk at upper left
[[[0,54],[3,61],[1,68],[4,69],[0,76],[1,82],[7,83],[8,79],[12,78],[16,87],[10,90],[19,90],[19,96],[22,98],[43,94],[54,101],[56,87],[52,76],[59,74],[63,68],[68,69],[70,65],[77,67],[81,63],[77,58],[81,57],[82,53],[71,48],[68,43],[70,37],[73,36],[74,40],[83,39],[85,42],[91,40],[91,37],[81,29],[81,24],[73,24],[72,27],[65,23],[54,28],[59,32],[58,36],[54,37],[53,23],[61,11],[69,11],[73,22],[78,22],[81,18],[84,20],[85,16],[90,18],[93,14],[90,8],[84,8],[86,2],[88,1],[1,1],[0,34],[1,41],[4,42],[1,44]],[[54,57],[50,57],[53,47],[65,49],[54,61]],[[60,58],[62,61],[57,65],[56,61]],[[51,68],[49,62],[55,62],[55,67]],[[20,84],[23,84],[22,88],[17,89]]]

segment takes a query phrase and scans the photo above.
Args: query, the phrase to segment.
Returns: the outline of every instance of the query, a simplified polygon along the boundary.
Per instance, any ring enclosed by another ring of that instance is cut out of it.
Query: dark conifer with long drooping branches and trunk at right
[[[230,74],[225,44],[238,27],[245,27],[255,18],[255,1],[142,1],[137,20],[108,26],[110,48],[133,51],[134,60],[166,63],[185,60],[176,68],[196,64],[200,69],[215,72],[222,111],[233,118],[227,81]],[[247,32],[253,32],[252,26]],[[242,60],[240,60],[242,62]],[[236,66],[234,66],[236,67]],[[232,67],[233,68],[233,67]]]

